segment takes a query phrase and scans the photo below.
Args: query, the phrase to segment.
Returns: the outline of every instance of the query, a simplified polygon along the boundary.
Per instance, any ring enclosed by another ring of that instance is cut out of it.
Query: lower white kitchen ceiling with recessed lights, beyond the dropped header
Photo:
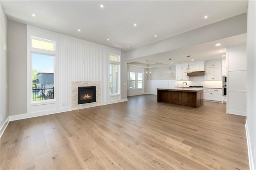
[[[217,43],[220,43],[221,45],[216,46]],[[243,44],[243,43],[246,43],[246,33],[241,35],[236,35],[233,37],[219,39],[216,41],[210,41],[207,43],[175,49],[172,51],[166,51],[163,53],[131,59],[127,61],[127,63],[128,65],[132,65],[132,66],[153,68],[153,67],[175,65],[175,64],[188,63],[188,62],[220,59],[222,58],[222,55],[226,55],[225,47]],[[189,58],[186,57],[188,55],[190,55]],[[192,59],[194,59],[194,61],[191,61]],[[148,66],[147,66],[147,63],[148,63]]]

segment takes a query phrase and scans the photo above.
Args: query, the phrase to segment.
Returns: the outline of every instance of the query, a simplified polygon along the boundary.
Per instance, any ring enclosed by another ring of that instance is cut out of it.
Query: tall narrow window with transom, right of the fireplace
[[[120,56],[112,55],[109,56],[109,89],[110,94],[120,93]]]

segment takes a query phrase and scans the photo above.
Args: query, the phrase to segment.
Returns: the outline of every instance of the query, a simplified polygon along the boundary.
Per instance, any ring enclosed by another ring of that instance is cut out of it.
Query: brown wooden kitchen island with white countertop
[[[204,105],[204,89],[158,88],[157,102],[180,104],[197,108]]]

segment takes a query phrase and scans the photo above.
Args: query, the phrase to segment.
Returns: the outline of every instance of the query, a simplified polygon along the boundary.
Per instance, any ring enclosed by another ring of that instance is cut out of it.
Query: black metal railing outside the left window
[[[54,99],[54,88],[33,88],[33,101]]]

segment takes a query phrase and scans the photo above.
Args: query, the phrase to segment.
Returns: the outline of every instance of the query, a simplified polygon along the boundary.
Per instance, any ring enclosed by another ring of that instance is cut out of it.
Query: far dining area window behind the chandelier
[[[129,72],[128,84],[129,89],[143,88],[143,73]]]

